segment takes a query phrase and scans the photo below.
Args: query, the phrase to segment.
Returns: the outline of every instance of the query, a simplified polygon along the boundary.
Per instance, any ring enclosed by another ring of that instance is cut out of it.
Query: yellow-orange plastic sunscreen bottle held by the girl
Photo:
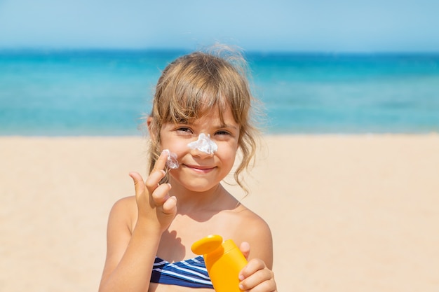
[[[216,292],[241,292],[239,272],[247,260],[233,240],[222,241],[219,235],[209,235],[194,242],[191,250],[203,255],[205,267]]]

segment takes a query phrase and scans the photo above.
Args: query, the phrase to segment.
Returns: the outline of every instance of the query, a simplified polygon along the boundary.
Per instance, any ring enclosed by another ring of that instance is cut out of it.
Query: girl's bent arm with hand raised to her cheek
[[[140,174],[130,174],[135,184],[137,210],[129,198],[114,204],[107,228],[107,259],[100,292],[148,290],[161,235],[176,211],[176,199],[168,195],[170,185],[158,186],[165,175],[165,163],[166,155],[162,154],[145,182]],[[135,211],[137,222],[130,232],[130,218]]]

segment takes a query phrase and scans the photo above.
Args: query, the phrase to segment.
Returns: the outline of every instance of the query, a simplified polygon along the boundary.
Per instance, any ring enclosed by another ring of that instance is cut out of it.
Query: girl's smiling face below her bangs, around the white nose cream
[[[238,151],[239,125],[230,109],[223,113],[224,124],[218,109],[210,109],[203,117],[189,124],[166,123],[161,127],[161,147],[177,154],[180,167],[172,169],[172,183],[180,183],[191,191],[203,192],[217,186],[229,174]],[[199,134],[209,134],[217,144],[215,153],[208,154],[189,148]]]

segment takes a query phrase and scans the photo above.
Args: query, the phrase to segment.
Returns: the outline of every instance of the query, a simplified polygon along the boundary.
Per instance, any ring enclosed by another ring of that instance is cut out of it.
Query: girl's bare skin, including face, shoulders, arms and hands
[[[216,139],[221,153],[207,155],[187,147],[171,149],[177,152],[180,167],[171,170],[170,183],[159,184],[165,176],[166,153],[158,158],[146,181],[140,174],[130,173],[135,196],[119,200],[110,212],[100,292],[193,290],[149,283],[154,258],[159,256],[171,263],[194,258],[191,244],[211,234],[241,244],[241,251],[249,260],[239,274],[241,290],[276,291],[268,225],[220,183],[234,164],[238,127],[231,113],[224,115],[227,127],[215,113],[208,115],[207,122],[201,118],[198,123],[184,127],[163,125],[161,141],[163,148],[186,145],[204,132]]]

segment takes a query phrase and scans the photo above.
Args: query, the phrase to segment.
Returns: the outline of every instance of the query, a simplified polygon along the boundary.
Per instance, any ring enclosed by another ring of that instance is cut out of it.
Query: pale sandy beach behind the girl
[[[278,291],[439,291],[439,135],[266,136],[243,204]],[[0,137],[0,291],[97,291],[140,137]],[[238,188],[230,190],[243,197]]]

